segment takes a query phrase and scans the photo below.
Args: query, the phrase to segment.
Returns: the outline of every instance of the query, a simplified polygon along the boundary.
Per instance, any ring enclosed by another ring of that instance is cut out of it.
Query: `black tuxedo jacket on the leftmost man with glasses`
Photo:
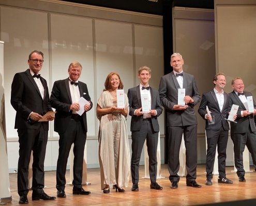
[[[52,111],[47,81],[42,77],[39,79],[44,87],[43,97],[29,69],[14,75],[11,84],[11,105],[16,110],[15,129],[38,129],[42,124],[44,130],[49,130],[49,122],[27,123],[32,112],[40,114],[42,111]]]

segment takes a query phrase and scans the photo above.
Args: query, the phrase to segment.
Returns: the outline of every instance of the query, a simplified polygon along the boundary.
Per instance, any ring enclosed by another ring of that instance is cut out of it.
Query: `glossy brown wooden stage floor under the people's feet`
[[[234,167],[227,167],[227,178],[231,179],[233,184],[218,183],[218,175],[214,175],[213,185],[206,186],[205,165],[198,165],[197,182],[202,185],[201,188],[186,186],[186,178],[180,178],[177,189],[170,188],[169,172],[167,165],[161,165],[162,177],[157,182],[163,187],[162,191],[150,190],[150,180],[140,178],[139,192],[131,191],[131,178],[129,186],[125,188],[125,193],[116,193],[110,190],[110,194],[103,194],[100,190],[100,170],[99,168],[87,169],[87,181],[91,185],[84,185],[84,190],[91,191],[91,195],[72,195],[72,186],[66,185],[67,198],[57,198],[52,201],[32,201],[32,191],[28,193],[28,205],[256,205],[256,173],[246,173],[246,182],[239,182],[236,173],[231,172]],[[12,202],[7,205],[20,205],[19,195],[17,193],[17,174],[10,174],[10,190]],[[144,166],[140,166],[140,177],[144,176]],[[69,170],[66,174],[69,182]],[[55,171],[46,171],[44,189],[50,196],[56,196]],[[3,186],[3,185],[2,185]]]

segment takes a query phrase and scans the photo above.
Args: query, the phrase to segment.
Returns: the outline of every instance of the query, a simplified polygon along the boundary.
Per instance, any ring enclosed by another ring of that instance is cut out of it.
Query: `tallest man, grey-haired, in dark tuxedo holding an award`
[[[161,77],[159,95],[167,112],[168,127],[168,169],[171,188],[178,187],[179,149],[184,133],[186,146],[187,186],[201,187],[197,178],[197,116],[193,107],[200,101],[194,76],[183,72],[184,60],[179,53],[171,56],[173,72]],[[178,89],[185,89],[185,106],[177,105]]]

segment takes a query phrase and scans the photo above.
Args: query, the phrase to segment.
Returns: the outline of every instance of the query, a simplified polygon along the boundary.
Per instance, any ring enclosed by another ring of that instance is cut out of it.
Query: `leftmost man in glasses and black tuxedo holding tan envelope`
[[[27,204],[28,165],[33,150],[32,200],[54,200],[43,191],[44,157],[49,122],[38,122],[41,113],[52,111],[47,81],[40,76],[43,53],[34,50],[28,56],[29,69],[15,74],[11,84],[11,105],[16,110],[15,129],[19,136],[18,193],[20,204]],[[54,115],[47,118],[53,121]]]

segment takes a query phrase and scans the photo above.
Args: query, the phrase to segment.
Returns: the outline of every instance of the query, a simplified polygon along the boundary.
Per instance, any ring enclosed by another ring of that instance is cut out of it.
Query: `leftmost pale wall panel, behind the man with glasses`
[[[1,40],[5,42],[6,136],[10,139],[18,137],[17,130],[14,130],[16,111],[10,105],[11,82],[14,74],[27,70],[28,55],[32,50],[43,52],[44,63],[40,74],[49,84],[47,13],[2,7],[0,25]]]

